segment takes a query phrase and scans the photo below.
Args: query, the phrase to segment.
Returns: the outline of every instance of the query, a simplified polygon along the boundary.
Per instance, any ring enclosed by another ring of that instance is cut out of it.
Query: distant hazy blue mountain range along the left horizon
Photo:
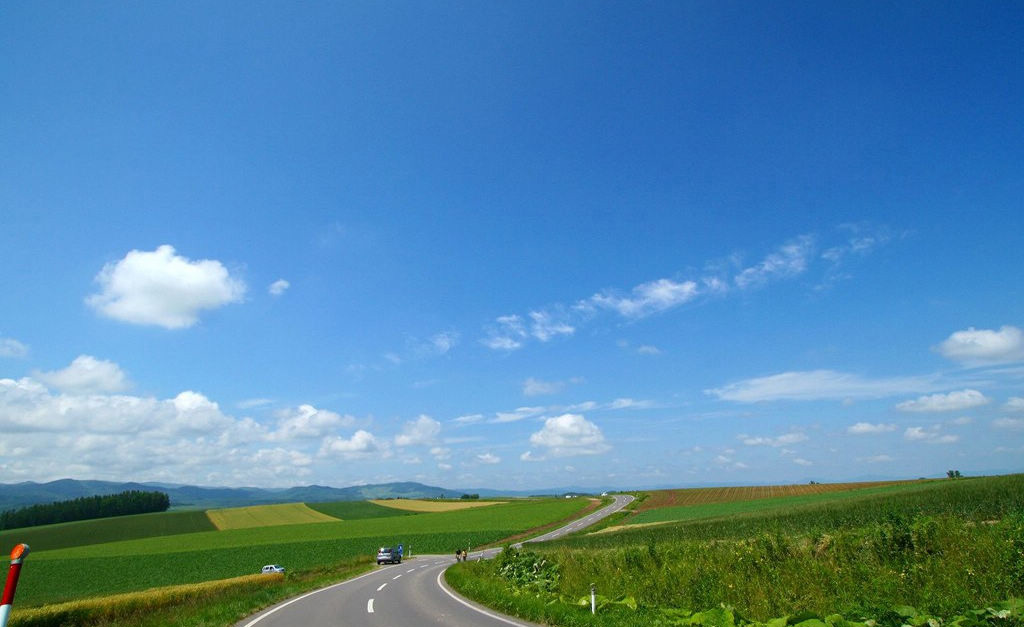
[[[500,490],[451,490],[436,486],[425,486],[415,482],[397,482],[369,486],[331,488],[329,486],[301,486],[296,488],[201,488],[199,486],[178,486],[173,484],[137,484],[79,479],[57,479],[48,484],[25,482],[22,484],[0,484],[0,510],[16,509],[38,503],[68,501],[80,497],[118,494],[127,490],[160,491],[171,498],[171,507],[242,507],[246,505],[266,505],[270,503],[321,503],[327,501],[362,501],[368,499],[425,499],[459,498],[463,494],[478,494],[481,497],[532,496],[537,494],[565,494],[588,492],[565,489],[541,492],[511,492]]]

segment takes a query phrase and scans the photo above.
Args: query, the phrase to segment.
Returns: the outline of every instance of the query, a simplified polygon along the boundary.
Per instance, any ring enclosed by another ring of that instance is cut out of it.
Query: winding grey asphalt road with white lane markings
[[[554,540],[589,527],[626,507],[633,497],[614,495],[614,499],[607,507],[527,542]],[[470,553],[470,559],[489,559],[500,550],[476,551]],[[366,575],[267,608],[236,627],[532,626],[453,592],[444,583],[444,570],[453,563],[451,555],[418,555],[402,563],[379,567]]]

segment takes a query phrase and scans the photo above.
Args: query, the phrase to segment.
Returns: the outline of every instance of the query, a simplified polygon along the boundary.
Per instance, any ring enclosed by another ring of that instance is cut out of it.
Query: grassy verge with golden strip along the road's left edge
[[[248,575],[27,610],[14,605],[9,626],[224,627],[276,602],[351,579],[374,567],[370,556],[362,556],[287,575]]]

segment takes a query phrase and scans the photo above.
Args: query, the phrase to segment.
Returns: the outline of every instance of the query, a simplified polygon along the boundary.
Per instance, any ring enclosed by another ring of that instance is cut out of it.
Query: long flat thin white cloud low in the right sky
[[[865,379],[859,375],[834,370],[783,372],[706,389],[723,401],[759,403],[762,401],[823,401],[844,399],[883,399],[913,391],[928,391],[934,383],[923,377]]]

